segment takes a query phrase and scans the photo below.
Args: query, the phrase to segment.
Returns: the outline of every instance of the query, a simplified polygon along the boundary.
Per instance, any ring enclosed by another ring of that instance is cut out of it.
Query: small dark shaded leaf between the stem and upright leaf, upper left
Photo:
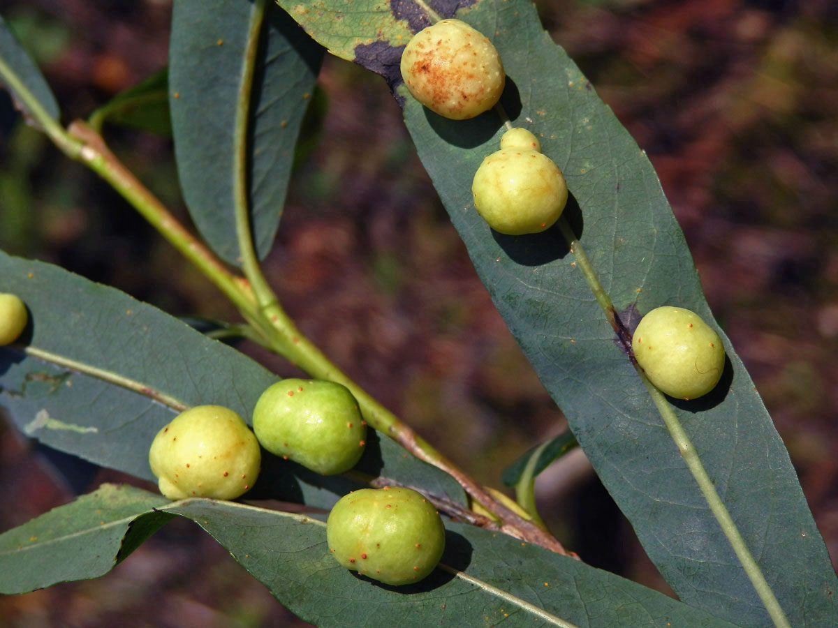
[[[90,124],[101,132],[105,122],[131,126],[160,135],[172,134],[168,115],[168,69],[163,68],[114,96],[91,114]]]

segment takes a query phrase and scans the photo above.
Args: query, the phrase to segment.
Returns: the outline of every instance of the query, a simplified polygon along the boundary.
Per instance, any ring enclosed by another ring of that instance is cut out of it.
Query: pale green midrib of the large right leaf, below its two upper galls
[[[618,336],[623,338],[623,324],[622,322],[619,322],[619,319],[616,316],[613,303],[611,302],[611,297],[608,296],[608,293],[606,293],[602,284],[600,284],[596,273],[593,271],[590,261],[587,259],[587,255],[585,255],[585,251],[582,250],[582,245],[577,239],[576,234],[573,233],[571,226],[567,224],[564,217],[559,220],[559,229],[561,229],[561,234],[564,235],[567,240],[567,245],[570,247],[570,250],[576,259],[577,266],[579,266],[579,269],[582,270],[582,275],[585,277],[588,286],[591,286],[591,290],[593,291],[593,295],[596,297],[599,306],[603,308],[605,316],[608,318],[608,322],[611,323],[615,332],[618,333]],[[742,564],[742,568],[745,570],[745,574],[747,574],[748,579],[751,580],[753,588],[756,589],[759,599],[763,600],[763,605],[765,605],[766,610],[768,610],[768,615],[771,616],[771,619],[777,628],[791,628],[788,618],[783,612],[783,609],[780,608],[776,596],[773,594],[768,581],[765,579],[765,575],[762,570],[759,569],[757,561],[753,559],[753,555],[748,550],[745,539],[742,538],[742,534],[739,532],[736,522],[733,521],[733,517],[731,517],[730,512],[727,511],[727,507],[724,502],[722,502],[722,498],[719,497],[719,494],[716,492],[716,487],[713,486],[710,476],[707,475],[704,464],[701,462],[701,458],[698,456],[696,448],[692,445],[689,437],[684,431],[683,426],[680,424],[680,420],[678,420],[675,410],[672,409],[672,406],[666,400],[664,394],[655,388],[653,383],[649,382],[649,378],[646,377],[643,369],[639,367],[634,359],[632,359],[632,363],[634,364],[634,368],[639,373],[640,378],[643,380],[646,389],[649,390],[649,395],[651,395],[655,407],[658,409],[658,412],[660,412],[660,416],[664,420],[666,429],[669,430],[672,440],[675,441],[675,445],[677,445],[680,455],[683,456],[687,468],[690,469],[693,478],[696,480],[696,483],[701,490],[701,494],[704,496],[707,505],[713,513],[713,516],[716,517],[716,521],[719,522],[719,525],[722,528],[722,533],[724,533],[728,543],[731,544],[733,552],[736,553],[739,562]]]

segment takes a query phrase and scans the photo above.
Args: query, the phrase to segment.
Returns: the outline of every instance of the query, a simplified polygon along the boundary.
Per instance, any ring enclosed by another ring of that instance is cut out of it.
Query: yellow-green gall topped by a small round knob
[[[501,234],[537,234],[549,229],[567,203],[567,183],[530,131],[515,128],[501,149],[485,157],[474,173],[474,208]]]

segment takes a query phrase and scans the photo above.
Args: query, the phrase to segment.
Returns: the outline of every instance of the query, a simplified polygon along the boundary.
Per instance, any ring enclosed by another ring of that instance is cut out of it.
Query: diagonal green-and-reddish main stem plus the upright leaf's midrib
[[[266,0],[259,0],[258,7],[255,9],[257,13],[264,12],[265,2]],[[255,23],[260,20],[261,18],[254,18],[254,23],[251,23],[251,33],[256,28]],[[249,45],[256,46],[255,39],[251,37],[251,44]],[[255,48],[252,50],[255,50]],[[186,259],[213,281],[224,292],[225,296],[238,307],[246,321],[264,337],[268,347],[282,354],[293,363],[297,363],[313,377],[332,379],[343,383],[358,399],[370,425],[389,435],[420,460],[437,466],[437,468],[453,476],[473,499],[476,499],[490,512],[494,512],[503,519],[500,529],[504,533],[523,538],[530,543],[537,543],[557,553],[566,553],[561,543],[556,541],[556,538],[491,497],[483,486],[473,481],[451,461],[448,461],[426,440],[416,435],[409,426],[398,420],[395,414],[385,409],[383,405],[331,363],[318,347],[315,347],[308,338],[297,330],[297,327],[279,306],[270,286],[267,286],[262,278],[256,255],[253,255],[251,260],[247,262],[247,272],[251,275],[251,281],[256,280],[253,282],[256,285],[252,285],[241,277],[232,275],[209,249],[199,242],[194,235],[190,234],[168,212],[163,203],[160,203],[158,198],[147,190],[133,173],[116,158],[106,147],[101,136],[91,126],[83,121],[75,121],[70,125],[69,133],[64,131],[39,105],[38,100],[28,91],[26,86],[18,80],[17,75],[8,68],[8,65],[3,63],[3,59],[0,59],[0,76],[3,76],[7,84],[16,91],[20,100],[32,111],[36,121],[39,121],[48,132],[49,137],[69,157],[84,163],[110,183],[116,192],[122,194],[122,197],[126,198]],[[249,81],[243,79],[242,83],[244,85]],[[243,95],[245,91],[242,88],[241,94]],[[240,108],[237,125],[244,124],[245,117],[243,116],[244,114],[241,113]],[[246,131],[238,128],[236,132],[237,134],[241,133],[241,135],[238,135],[240,156],[237,157],[239,160],[237,167],[240,174],[237,179],[241,182],[246,180],[243,178],[246,176],[246,166],[243,157],[241,157],[242,141],[245,139]],[[248,237],[250,234],[249,224],[243,228],[244,221],[247,220],[246,196],[242,198],[243,194],[245,194],[243,189],[239,188],[236,212],[239,221],[237,230],[240,238],[242,237],[241,234],[248,234]],[[243,247],[243,250],[252,250],[251,246]],[[256,286],[259,286],[261,291],[258,299],[254,294]]]

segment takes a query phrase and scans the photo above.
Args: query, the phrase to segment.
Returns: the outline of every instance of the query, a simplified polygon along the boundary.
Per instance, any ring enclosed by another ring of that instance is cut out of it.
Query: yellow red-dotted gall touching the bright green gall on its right
[[[198,405],[158,432],[148,464],[169,499],[235,499],[259,476],[261,452],[256,436],[233,410]]]

